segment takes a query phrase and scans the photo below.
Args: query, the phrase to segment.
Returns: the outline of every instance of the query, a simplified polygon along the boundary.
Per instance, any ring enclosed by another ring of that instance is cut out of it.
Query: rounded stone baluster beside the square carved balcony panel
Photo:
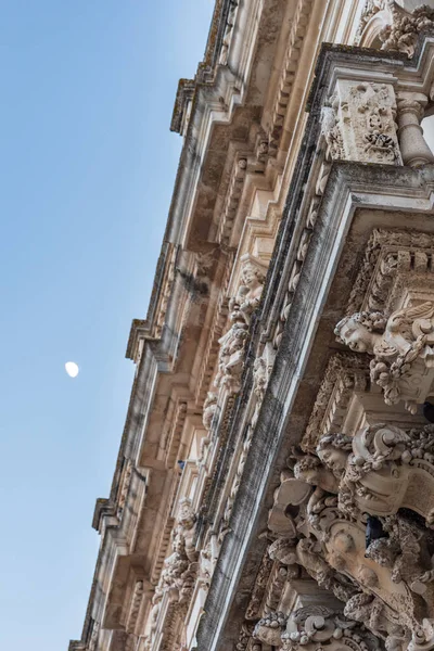
[[[403,92],[398,95],[398,138],[405,165],[419,167],[433,163],[434,156],[423,138],[420,123],[427,99],[421,93]]]

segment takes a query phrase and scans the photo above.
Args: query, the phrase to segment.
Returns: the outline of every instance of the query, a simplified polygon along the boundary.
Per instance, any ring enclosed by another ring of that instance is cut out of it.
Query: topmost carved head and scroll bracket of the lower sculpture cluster
[[[404,431],[380,423],[365,427],[354,438],[326,436],[320,439],[317,454],[339,480],[341,511],[354,518],[358,512],[392,515],[405,507],[422,515],[431,526],[433,425]]]

